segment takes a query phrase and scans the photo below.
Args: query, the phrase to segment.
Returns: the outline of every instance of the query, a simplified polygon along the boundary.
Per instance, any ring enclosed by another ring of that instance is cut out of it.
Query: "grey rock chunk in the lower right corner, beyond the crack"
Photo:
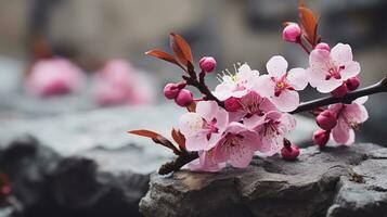
[[[340,178],[327,216],[387,216],[387,149],[372,151],[352,171]]]

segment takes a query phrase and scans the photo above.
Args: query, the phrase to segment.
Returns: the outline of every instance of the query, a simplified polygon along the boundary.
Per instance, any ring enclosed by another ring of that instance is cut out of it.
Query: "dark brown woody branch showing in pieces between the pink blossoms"
[[[197,80],[193,80],[193,79],[190,79],[190,78],[185,79],[185,80],[188,81],[188,84],[191,82],[190,85],[195,86],[197,89],[199,89],[198,87],[201,87],[201,89],[203,91],[205,91],[205,92],[208,90],[208,88],[206,86],[203,87],[203,85],[199,84]],[[202,90],[201,90],[201,92],[202,92]],[[387,76],[384,79],[382,79],[379,82],[375,84],[375,85],[365,87],[363,89],[356,90],[353,92],[350,92],[350,93],[346,94],[343,98],[327,97],[327,98],[317,99],[317,100],[312,100],[312,101],[309,101],[309,102],[301,103],[295,111],[291,112],[291,114],[296,114],[296,113],[300,113],[300,112],[307,112],[307,111],[311,111],[311,110],[317,108],[317,107],[326,106],[326,105],[334,104],[334,103],[339,103],[339,102],[341,102],[341,103],[351,103],[353,100],[356,100],[358,98],[361,98],[361,97],[364,97],[364,95],[374,94],[374,93],[378,93],[378,92],[387,92]],[[204,92],[202,92],[202,93],[206,94]],[[210,94],[208,94],[208,95],[206,94],[207,98],[209,97],[208,100],[214,100],[214,101],[218,100],[217,98],[215,98],[211,94],[211,92],[209,92],[209,93]],[[214,97],[212,99],[211,99],[211,95]],[[197,152],[186,152],[186,154],[178,156],[172,162],[168,162],[168,163],[164,164],[159,168],[158,174],[167,175],[167,174],[172,173],[172,171],[178,171],[185,164],[196,159],[197,157],[198,157]]]

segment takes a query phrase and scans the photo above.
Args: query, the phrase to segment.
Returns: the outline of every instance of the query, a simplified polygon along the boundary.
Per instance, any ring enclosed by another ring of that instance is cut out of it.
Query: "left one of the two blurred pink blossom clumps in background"
[[[27,91],[34,95],[49,97],[69,93],[79,88],[81,69],[63,58],[36,62],[26,80]]]

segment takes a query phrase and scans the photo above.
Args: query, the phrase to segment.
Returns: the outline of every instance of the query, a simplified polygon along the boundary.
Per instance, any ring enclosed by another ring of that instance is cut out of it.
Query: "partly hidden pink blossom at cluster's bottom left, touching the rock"
[[[214,149],[208,151],[198,151],[198,158],[188,164],[193,171],[219,171],[225,167],[225,163],[217,163],[214,158]]]

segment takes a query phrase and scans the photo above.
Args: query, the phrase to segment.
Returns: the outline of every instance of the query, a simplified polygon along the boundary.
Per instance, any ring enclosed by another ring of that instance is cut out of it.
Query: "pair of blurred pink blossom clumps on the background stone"
[[[106,61],[94,74],[92,92],[99,105],[137,105],[154,101],[152,86],[125,60]],[[31,65],[26,90],[43,98],[67,94],[82,88],[85,78],[82,69],[67,59],[42,59]]]

